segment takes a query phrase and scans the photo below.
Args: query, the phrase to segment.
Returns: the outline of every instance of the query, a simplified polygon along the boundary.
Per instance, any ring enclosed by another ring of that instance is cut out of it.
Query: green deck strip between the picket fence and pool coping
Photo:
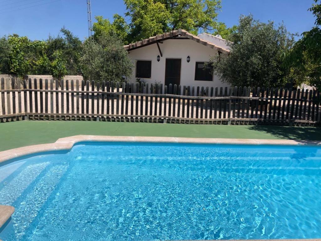
[[[0,151],[75,135],[321,140],[320,127],[195,125],[97,121],[0,123]]]

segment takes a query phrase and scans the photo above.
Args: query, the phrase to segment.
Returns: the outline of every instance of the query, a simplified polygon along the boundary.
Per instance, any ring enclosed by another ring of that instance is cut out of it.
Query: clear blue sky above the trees
[[[288,31],[301,34],[314,25],[307,9],[313,0],[222,0],[218,20],[237,24],[240,14],[252,13],[260,21],[284,21]],[[92,19],[126,11],[123,0],[91,0]],[[0,35],[17,33],[30,39],[46,39],[65,27],[84,39],[88,35],[86,0],[0,0]]]

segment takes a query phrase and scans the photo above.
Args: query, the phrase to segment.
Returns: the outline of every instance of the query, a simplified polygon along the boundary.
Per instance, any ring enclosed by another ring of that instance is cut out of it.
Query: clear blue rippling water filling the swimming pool
[[[321,237],[321,148],[82,143],[0,166],[14,240]]]

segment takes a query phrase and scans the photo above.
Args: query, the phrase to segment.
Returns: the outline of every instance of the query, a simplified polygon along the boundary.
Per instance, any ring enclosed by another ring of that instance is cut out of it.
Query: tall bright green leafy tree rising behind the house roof
[[[213,32],[217,26],[220,0],[124,0],[130,17],[130,38],[150,36],[185,29],[193,34]]]

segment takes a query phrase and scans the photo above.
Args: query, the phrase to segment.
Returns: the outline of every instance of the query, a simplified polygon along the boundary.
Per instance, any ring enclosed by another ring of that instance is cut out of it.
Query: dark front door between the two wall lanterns
[[[179,58],[167,58],[165,66],[165,85],[169,84],[179,85],[180,84],[180,69],[181,59]]]

